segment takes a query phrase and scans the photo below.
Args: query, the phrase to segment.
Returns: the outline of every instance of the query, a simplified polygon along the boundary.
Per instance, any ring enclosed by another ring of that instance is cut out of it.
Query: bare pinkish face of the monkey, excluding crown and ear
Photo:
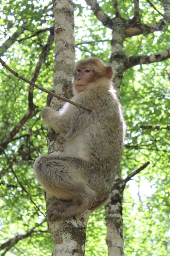
[[[95,72],[90,65],[77,67],[74,76],[75,89],[83,91],[94,80]]]

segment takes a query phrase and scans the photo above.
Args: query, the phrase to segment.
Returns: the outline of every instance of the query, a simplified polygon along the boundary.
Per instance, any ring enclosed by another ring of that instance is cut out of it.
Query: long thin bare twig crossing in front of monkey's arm
[[[5,63],[1,58],[0,58],[0,62],[1,62],[1,64],[2,64],[2,66],[4,66],[4,67],[5,67],[8,71],[10,71],[13,75],[15,75],[15,76],[18,77],[19,79],[23,80],[24,82],[26,82],[26,83],[28,83],[28,84],[30,84],[30,85],[33,85],[34,87],[38,88],[39,90],[44,91],[45,93],[50,94],[50,95],[52,95],[53,97],[55,97],[55,98],[57,98],[57,99],[59,99],[59,100],[63,100],[63,101],[69,102],[70,104],[77,106],[77,108],[79,108],[79,109],[85,109],[85,110],[87,110],[89,113],[90,113],[90,112],[92,112],[92,113],[95,113],[95,112],[96,112],[95,110],[92,110],[92,109],[87,108],[87,107],[85,107],[85,106],[83,106],[83,105],[81,105],[81,104],[75,103],[75,102],[73,102],[72,100],[69,100],[69,99],[64,98],[64,97],[62,97],[62,96],[60,96],[60,95],[57,95],[57,94],[55,94],[55,93],[52,93],[51,91],[49,91],[49,90],[47,90],[47,89],[45,89],[45,88],[43,88],[43,87],[41,87],[41,86],[39,86],[39,85],[33,83],[32,81],[26,79],[24,76],[18,74],[16,71],[14,71],[13,69],[11,69],[8,65],[6,65],[6,63]]]

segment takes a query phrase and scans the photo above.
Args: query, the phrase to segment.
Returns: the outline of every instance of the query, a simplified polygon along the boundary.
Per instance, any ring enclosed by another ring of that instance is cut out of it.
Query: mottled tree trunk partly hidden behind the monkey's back
[[[124,66],[127,57],[123,52],[123,42],[125,38],[124,20],[119,17],[117,12],[118,22],[113,24],[112,33],[112,54],[110,64],[113,69],[113,82],[120,98],[120,84],[123,77]],[[122,200],[123,190],[120,187],[121,169],[117,170],[115,182],[112,190],[111,203],[107,205],[105,216],[107,226],[107,246],[109,256],[123,256],[123,218],[122,218]]]

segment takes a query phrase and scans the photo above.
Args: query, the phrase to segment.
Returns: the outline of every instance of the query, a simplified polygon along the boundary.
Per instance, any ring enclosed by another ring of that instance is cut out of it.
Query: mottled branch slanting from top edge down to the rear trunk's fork
[[[100,20],[101,23],[103,23],[104,26],[107,28],[111,28],[113,26],[112,19],[107,16],[102,8],[99,6],[98,2],[96,0],[85,0],[87,4],[90,5],[91,10],[94,12],[96,17]]]

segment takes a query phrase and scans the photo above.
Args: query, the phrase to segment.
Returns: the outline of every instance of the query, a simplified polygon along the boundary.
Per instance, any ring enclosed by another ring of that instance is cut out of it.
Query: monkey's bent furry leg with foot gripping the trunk
[[[66,218],[87,209],[96,198],[83,175],[88,162],[74,157],[41,156],[34,163],[37,179],[57,199],[47,209],[51,221]]]

